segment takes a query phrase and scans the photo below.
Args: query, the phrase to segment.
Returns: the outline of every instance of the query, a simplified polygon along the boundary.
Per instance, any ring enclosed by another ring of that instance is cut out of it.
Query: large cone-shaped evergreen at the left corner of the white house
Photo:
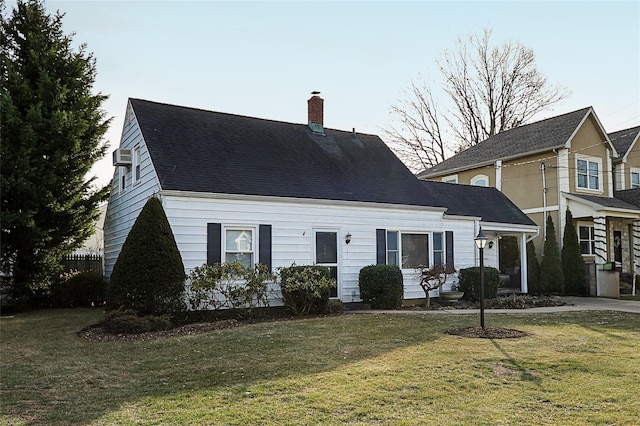
[[[159,199],[151,197],[138,215],[113,266],[107,303],[142,315],[185,310],[184,265]]]

